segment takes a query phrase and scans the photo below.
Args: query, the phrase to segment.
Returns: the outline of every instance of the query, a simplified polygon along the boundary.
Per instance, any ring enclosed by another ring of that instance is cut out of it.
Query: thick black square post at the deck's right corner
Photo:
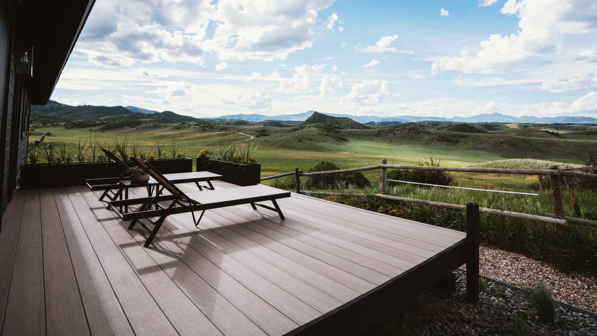
[[[466,301],[479,301],[479,204],[466,204]]]

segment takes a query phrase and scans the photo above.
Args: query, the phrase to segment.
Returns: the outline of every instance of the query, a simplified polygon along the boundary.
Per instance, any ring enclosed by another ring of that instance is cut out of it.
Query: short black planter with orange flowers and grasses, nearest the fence
[[[197,171],[208,171],[224,176],[223,181],[246,186],[260,183],[261,164],[253,156],[259,143],[251,141],[247,146],[236,143],[218,146],[218,151],[202,150],[197,155]]]

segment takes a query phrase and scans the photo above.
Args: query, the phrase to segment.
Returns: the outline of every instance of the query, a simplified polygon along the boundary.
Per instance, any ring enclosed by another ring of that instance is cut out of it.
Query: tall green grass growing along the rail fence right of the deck
[[[288,187],[293,186],[288,183]],[[343,193],[345,194],[329,196],[327,199],[413,221],[466,231],[466,212],[461,210],[400,201],[388,201],[388,204],[383,206],[381,199],[374,196],[379,193],[378,187],[360,190],[351,188],[344,190]],[[364,193],[364,195],[354,196],[353,193]],[[552,199],[548,193],[525,196],[473,190],[418,188],[410,185],[390,188],[387,193],[393,196],[462,205],[475,201],[481,207],[540,216],[553,213]],[[571,202],[570,191],[563,191],[562,194],[565,215],[577,216]],[[580,218],[597,219],[595,193],[577,190],[574,196],[577,202],[576,211],[580,211]],[[480,226],[481,243],[531,255],[562,270],[597,274],[597,228],[570,223],[565,228],[565,235],[560,237],[553,224],[488,214],[481,214]]]

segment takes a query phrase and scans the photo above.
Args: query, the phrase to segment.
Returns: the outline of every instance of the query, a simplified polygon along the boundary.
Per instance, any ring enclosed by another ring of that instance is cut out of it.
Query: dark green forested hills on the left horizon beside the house
[[[133,121],[144,120],[163,124],[177,124],[188,121],[196,121],[197,118],[189,117],[188,115],[176,114],[172,111],[156,112],[146,109],[141,109],[147,112],[136,112],[128,106],[93,106],[93,105],[79,105],[70,106],[50,100],[46,105],[31,105],[32,112],[40,112],[44,115],[51,115],[62,118],[63,120],[103,120],[103,121]],[[139,108],[135,108],[139,109]],[[32,113],[32,116],[34,114]],[[35,116],[39,117],[38,114]]]

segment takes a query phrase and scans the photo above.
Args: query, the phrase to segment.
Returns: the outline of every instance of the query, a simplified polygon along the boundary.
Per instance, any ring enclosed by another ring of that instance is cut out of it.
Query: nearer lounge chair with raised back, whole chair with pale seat
[[[149,237],[144,247],[151,244],[153,237],[158,233],[159,228],[164,223],[164,220],[177,213],[188,213],[190,212],[193,216],[193,224],[197,226],[205,210],[217,209],[226,206],[235,206],[240,204],[251,204],[253,209],[257,209],[256,206],[264,207],[266,209],[275,211],[278,213],[280,218],[284,219],[284,214],[278,206],[276,200],[278,198],[290,197],[290,191],[279,190],[272,188],[267,185],[257,184],[250,185],[248,187],[236,187],[228,189],[219,189],[204,193],[196,191],[193,193],[185,194],[179,188],[176,187],[171,181],[169,181],[165,175],[162,175],[158,170],[151,166],[147,161],[140,160],[139,158],[133,158],[139,166],[144,169],[155,181],[158,181],[163,189],[169,191],[171,195],[155,194],[155,196],[142,197],[142,198],[131,198],[128,200],[116,200],[110,201],[107,209],[112,209],[118,214],[123,221],[132,221],[128,226],[128,230],[134,228],[135,224],[139,224],[149,232]],[[159,202],[171,201],[170,206],[164,207]],[[266,206],[257,202],[272,201],[273,207]],[[128,206],[139,205],[139,208],[135,212],[128,212]],[[155,206],[155,209],[153,208]],[[122,208],[124,207],[124,212]],[[199,219],[195,222],[195,211],[201,211]],[[157,218],[156,221],[152,221],[152,218]],[[146,224],[141,222],[141,219],[146,219],[154,225],[153,230],[147,227]]]

